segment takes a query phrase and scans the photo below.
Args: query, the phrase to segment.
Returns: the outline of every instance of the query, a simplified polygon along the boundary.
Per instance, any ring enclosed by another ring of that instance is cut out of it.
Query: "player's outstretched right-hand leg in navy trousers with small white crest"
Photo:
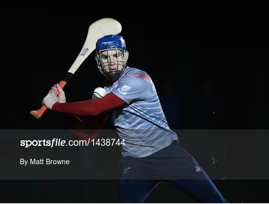
[[[165,180],[198,202],[227,203],[204,169],[179,143],[170,147],[162,172]]]

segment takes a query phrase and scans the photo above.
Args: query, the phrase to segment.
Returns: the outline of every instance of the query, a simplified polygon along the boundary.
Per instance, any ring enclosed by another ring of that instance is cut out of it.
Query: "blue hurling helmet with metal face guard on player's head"
[[[109,55],[109,50],[115,50],[118,56],[118,50],[121,50],[122,54],[122,60],[120,61],[119,58],[117,57],[117,61],[111,61],[110,58],[107,58],[107,62],[101,62],[101,53],[104,51],[107,51],[107,55]],[[106,77],[106,79],[110,82],[115,82],[120,78],[122,75],[126,63],[127,63],[127,49],[126,49],[126,44],[125,40],[123,39],[122,36],[120,35],[106,35],[100,39],[97,40],[96,42],[96,55],[95,59],[97,62],[97,66],[100,70],[100,72]],[[111,64],[117,64],[117,70],[111,69]],[[104,67],[108,66],[109,71],[106,72]],[[119,69],[119,66],[122,66],[122,69]]]

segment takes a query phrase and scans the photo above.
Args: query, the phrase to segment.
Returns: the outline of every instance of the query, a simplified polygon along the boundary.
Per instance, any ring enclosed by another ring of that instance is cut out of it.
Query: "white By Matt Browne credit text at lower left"
[[[30,162],[29,162],[30,161]],[[28,163],[29,162],[29,163]],[[52,160],[52,159],[20,159],[20,165],[69,165],[69,160]]]

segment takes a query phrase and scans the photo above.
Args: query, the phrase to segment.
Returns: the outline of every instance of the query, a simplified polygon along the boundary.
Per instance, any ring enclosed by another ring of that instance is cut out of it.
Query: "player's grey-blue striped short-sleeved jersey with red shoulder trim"
[[[112,122],[121,139],[122,156],[146,157],[177,140],[163,114],[156,89],[148,74],[126,67],[118,81],[104,87],[127,104],[112,110]]]

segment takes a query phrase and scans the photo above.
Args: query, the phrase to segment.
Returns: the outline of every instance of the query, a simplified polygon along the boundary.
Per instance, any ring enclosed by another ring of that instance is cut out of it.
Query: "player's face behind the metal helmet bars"
[[[122,55],[121,50],[105,50],[100,54],[100,61],[104,72],[122,71],[125,61],[128,59],[128,52],[126,59]]]

